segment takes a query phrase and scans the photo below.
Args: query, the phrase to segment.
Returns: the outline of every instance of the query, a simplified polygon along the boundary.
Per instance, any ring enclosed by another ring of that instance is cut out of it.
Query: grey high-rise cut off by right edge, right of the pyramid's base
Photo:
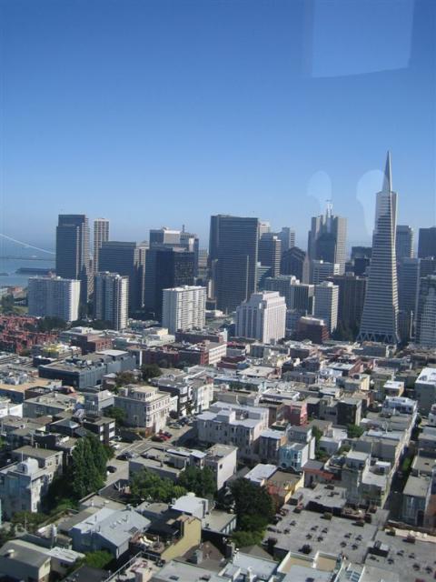
[[[424,347],[436,347],[436,276],[421,278],[416,317],[416,341]]]

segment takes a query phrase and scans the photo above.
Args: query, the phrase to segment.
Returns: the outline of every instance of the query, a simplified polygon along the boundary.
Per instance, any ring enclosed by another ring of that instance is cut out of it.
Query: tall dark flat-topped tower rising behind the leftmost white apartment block
[[[84,306],[93,287],[89,255],[89,224],[85,215],[59,215],[56,227],[56,275],[78,279]]]

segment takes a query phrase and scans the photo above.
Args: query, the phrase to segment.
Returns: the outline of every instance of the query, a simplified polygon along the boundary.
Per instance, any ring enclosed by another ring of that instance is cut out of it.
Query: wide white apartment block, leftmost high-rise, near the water
[[[61,317],[71,322],[79,318],[80,281],[60,276],[34,276],[29,279],[29,316]]]

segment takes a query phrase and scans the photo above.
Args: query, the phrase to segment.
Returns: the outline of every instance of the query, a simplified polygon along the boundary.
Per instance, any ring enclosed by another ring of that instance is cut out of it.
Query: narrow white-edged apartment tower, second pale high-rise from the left
[[[110,321],[114,329],[127,327],[129,277],[100,272],[95,276],[94,316]]]

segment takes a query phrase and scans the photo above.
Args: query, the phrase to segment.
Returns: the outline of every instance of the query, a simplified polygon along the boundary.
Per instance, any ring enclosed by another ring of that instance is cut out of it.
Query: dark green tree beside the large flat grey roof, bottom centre
[[[233,481],[231,491],[240,529],[262,530],[268,525],[274,516],[275,507],[265,487],[259,487],[240,477]]]

